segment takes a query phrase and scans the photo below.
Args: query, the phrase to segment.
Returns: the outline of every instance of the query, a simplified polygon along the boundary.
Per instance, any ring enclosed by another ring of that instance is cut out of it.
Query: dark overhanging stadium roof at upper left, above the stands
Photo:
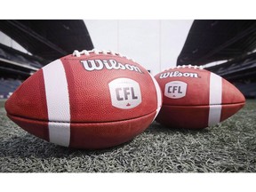
[[[43,65],[74,50],[93,48],[84,20],[0,20],[0,30],[43,59]]]

